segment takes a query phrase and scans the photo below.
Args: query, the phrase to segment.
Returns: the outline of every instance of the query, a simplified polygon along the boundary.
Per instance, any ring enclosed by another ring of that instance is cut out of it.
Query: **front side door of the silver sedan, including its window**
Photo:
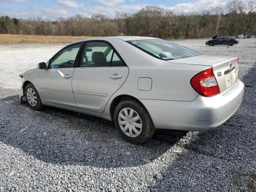
[[[38,86],[44,102],[76,108],[72,92],[74,65],[82,43],[72,44],[60,50],[48,64],[40,70]]]

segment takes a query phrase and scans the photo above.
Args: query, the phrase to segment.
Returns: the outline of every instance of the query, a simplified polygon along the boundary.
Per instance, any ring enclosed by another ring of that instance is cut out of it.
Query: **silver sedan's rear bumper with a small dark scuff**
[[[198,96],[194,101],[140,101],[147,108],[156,128],[207,131],[228,120],[239,108],[244,84],[238,80],[224,95]]]

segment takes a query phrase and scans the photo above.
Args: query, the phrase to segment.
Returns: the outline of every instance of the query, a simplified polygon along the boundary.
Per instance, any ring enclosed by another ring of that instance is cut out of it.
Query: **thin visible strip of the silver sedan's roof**
[[[110,38],[120,39],[120,40],[123,40],[123,41],[159,39],[159,38],[154,38],[154,37],[142,37],[142,36],[112,36],[112,37],[86,38],[86,39],[77,40],[77,41],[72,42],[72,43],[90,41],[90,40],[109,40]]]

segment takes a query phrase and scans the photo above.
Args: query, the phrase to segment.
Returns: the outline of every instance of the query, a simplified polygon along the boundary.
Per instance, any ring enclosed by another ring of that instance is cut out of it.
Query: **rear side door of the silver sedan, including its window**
[[[110,97],[124,84],[128,67],[106,41],[86,42],[72,88],[78,109],[103,112]]]

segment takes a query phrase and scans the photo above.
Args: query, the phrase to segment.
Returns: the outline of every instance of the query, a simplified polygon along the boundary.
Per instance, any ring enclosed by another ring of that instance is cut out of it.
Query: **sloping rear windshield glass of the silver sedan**
[[[162,60],[174,60],[199,55],[198,52],[161,39],[134,40],[127,42]]]

